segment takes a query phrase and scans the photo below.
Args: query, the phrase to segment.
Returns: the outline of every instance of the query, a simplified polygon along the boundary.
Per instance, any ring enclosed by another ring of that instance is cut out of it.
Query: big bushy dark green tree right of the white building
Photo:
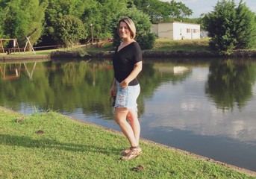
[[[243,1],[236,8],[234,0],[218,1],[212,13],[203,18],[209,32],[210,47],[221,54],[255,45],[255,13]]]

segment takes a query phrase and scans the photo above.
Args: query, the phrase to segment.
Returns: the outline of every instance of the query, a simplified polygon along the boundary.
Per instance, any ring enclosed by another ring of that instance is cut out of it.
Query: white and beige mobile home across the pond
[[[163,22],[152,25],[158,38],[171,40],[200,39],[200,25],[185,22]]]

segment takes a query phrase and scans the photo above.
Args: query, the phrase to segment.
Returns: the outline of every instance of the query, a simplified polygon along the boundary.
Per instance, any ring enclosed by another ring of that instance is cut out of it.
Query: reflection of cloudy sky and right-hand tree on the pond
[[[256,145],[253,117],[256,104],[253,98],[256,89],[255,65],[243,61],[215,60],[209,67],[193,67],[193,72],[187,77],[189,80],[183,83],[177,84],[170,79],[169,83],[157,88],[152,100],[146,102],[145,113],[155,116],[150,120],[149,127],[228,136]]]

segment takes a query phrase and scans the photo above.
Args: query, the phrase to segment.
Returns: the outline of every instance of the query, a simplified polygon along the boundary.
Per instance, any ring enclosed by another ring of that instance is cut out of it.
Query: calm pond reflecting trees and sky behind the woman
[[[0,63],[0,106],[120,131],[110,59]],[[141,136],[256,172],[256,59],[144,59]]]

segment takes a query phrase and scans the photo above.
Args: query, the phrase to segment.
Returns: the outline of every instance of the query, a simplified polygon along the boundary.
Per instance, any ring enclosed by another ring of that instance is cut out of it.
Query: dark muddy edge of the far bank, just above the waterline
[[[112,57],[114,51],[53,51],[51,57]],[[240,50],[230,55],[221,55],[212,51],[143,51],[143,57],[256,57],[256,51]]]

